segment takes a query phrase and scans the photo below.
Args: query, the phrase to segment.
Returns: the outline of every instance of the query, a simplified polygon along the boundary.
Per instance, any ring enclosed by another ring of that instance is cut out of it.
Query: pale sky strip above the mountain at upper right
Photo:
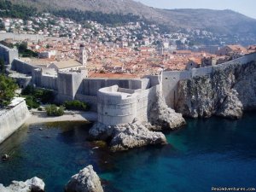
[[[256,19],[256,0],[136,0],[161,9],[231,9]]]

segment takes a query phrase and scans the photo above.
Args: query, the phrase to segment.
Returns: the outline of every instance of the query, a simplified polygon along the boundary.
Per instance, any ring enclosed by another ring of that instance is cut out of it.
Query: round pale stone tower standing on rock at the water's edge
[[[98,91],[98,121],[102,124],[131,123],[137,117],[137,93],[129,95],[117,90],[118,85],[113,85]]]

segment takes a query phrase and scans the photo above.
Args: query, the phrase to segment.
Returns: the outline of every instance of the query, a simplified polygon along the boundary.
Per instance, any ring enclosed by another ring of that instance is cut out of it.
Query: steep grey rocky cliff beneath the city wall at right
[[[177,86],[178,113],[191,118],[239,119],[244,110],[256,108],[256,62],[230,65],[211,75],[181,80]]]

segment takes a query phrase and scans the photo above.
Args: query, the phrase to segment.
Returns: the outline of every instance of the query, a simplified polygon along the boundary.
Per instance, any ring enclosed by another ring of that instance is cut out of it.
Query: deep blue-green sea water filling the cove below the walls
[[[166,133],[166,146],[117,154],[86,140],[91,125],[30,125],[0,145],[0,154],[11,155],[9,161],[0,161],[0,183],[38,176],[48,192],[61,192],[73,174],[92,164],[107,192],[256,188],[255,119],[256,113],[236,121],[188,119],[182,129]]]

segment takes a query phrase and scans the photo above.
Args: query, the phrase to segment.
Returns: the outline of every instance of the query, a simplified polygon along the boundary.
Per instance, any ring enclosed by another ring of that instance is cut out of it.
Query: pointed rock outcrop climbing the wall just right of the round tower
[[[169,108],[160,93],[157,93],[157,100],[149,111],[148,119],[153,130],[173,130],[186,124],[182,114]]]

